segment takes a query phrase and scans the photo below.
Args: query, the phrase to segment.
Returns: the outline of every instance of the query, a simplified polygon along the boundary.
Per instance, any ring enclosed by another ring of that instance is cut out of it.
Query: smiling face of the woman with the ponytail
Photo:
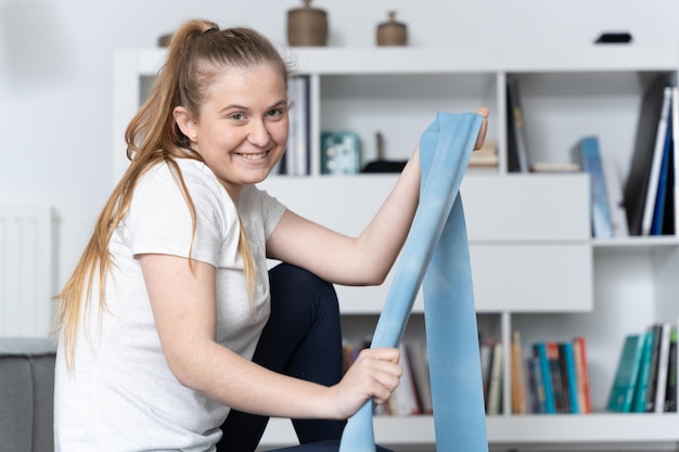
[[[175,120],[235,199],[244,185],[265,180],[285,151],[285,80],[268,64],[229,67],[215,76],[197,117],[179,106]]]

